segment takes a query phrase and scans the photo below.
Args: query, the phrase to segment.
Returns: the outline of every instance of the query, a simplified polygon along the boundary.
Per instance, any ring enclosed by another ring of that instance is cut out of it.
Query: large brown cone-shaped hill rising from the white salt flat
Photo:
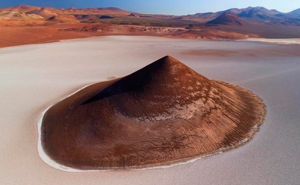
[[[71,168],[151,167],[239,146],[264,114],[252,92],[165,56],[52,106],[41,140],[51,159]]]

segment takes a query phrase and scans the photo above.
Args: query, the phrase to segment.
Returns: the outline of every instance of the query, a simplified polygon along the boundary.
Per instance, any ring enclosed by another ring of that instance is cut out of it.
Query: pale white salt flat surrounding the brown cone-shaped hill
[[[105,36],[0,49],[1,184],[297,184],[299,45]],[[38,156],[37,117],[93,82],[171,55],[211,79],[252,90],[265,123],[237,149],[169,168],[68,173]]]

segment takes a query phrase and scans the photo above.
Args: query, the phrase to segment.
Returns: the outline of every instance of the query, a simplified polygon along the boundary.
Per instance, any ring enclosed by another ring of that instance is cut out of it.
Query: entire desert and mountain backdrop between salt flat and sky
[[[56,9],[18,5],[0,9],[0,27],[0,47],[103,35],[282,39],[300,37],[300,9],[282,13],[248,7],[176,16],[115,7]]]

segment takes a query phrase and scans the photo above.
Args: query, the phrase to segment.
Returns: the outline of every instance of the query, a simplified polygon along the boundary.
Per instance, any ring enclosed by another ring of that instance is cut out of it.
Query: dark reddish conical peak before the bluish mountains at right
[[[217,18],[208,21],[207,24],[225,24],[225,25],[242,25],[244,21],[239,18],[236,14],[223,13]]]

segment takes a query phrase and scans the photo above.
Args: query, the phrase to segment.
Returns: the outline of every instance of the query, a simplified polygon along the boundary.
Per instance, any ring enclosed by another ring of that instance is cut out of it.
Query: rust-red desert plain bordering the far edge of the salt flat
[[[77,23],[77,20],[56,16],[47,21],[0,20],[0,47],[53,42],[103,35],[151,35],[180,39],[245,39],[256,37],[218,30],[193,31],[169,27]]]

